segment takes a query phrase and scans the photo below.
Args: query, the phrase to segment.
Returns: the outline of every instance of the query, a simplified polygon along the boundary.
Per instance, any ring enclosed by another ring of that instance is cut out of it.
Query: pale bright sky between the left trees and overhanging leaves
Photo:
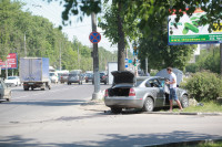
[[[21,2],[26,2],[27,6],[23,7],[24,11],[30,11],[33,15],[41,15],[43,18],[49,19],[50,22],[54,24],[54,27],[59,27],[62,24],[61,13],[64,8],[60,4],[59,1],[48,2],[47,0],[20,0]],[[101,17],[101,14],[99,15]],[[92,43],[89,40],[89,35],[92,32],[91,28],[91,17],[84,17],[83,21],[77,21],[77,17],[71,17],[72,23],[71,25],[63,27],[62,32],[68,35],[70,41],[73,40],[75,35],[77,39],[84,45],[92,48]],[[102,34],[103,30],[98,28],[97,30],[101,34],[101,41],[99,42],[99,46],[103,46],[104,49],[113,52],[117,51],[117,45],[112,45],[109,40]]]

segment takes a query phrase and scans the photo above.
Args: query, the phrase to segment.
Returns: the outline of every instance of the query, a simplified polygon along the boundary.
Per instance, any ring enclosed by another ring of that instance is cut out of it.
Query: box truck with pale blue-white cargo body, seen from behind
[[[21,57],[20,59],[20,80],[23,90],[32,91],[40,87],[42,91],[51,88],[49,77],[49,59],[47,57]]]

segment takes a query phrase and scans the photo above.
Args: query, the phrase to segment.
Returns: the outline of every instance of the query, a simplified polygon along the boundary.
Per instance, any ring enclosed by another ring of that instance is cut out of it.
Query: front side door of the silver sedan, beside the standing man
[[[145,83],[145,86],[149,87],[150,93],[152,93],[155,98],[155,106],[164,105],[164,92],[161,83],[158,78],[151,78]]]

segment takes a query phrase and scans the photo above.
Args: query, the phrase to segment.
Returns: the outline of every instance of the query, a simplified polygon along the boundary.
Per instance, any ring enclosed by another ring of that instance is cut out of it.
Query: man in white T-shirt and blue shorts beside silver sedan
[[[178,99],[175,90],[176,90],[176,76],[172,72],[172,67],[167,69],[168,73],[170,74],[170,81],[165,82],[167,84],[170,84],[170,112],[173,109],[173,99],[178,103],[178,106],[180,107],[181,111],[183,111],[180,101]]]

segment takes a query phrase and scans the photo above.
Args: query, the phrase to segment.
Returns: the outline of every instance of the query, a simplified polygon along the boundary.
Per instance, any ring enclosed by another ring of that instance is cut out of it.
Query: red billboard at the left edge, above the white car
[[[9,53],[7,56],[8,69],[18,69],[18,56],[17,53]],[[0,59],[1,70],[6,70],[6,62]]]

